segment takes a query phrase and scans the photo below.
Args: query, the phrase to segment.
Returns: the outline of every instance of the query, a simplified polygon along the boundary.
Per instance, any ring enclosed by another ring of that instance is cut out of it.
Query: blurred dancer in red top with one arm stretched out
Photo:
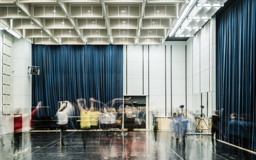
[[[22,142],[22,118],[25,120],[30,116],[34,115],[38,108],[42,106],[42,102],[38,102],[36,108],[30,114],[20,114],[20,108],[17,111],[17,114],[13,115],[13,140],[14,140],[14,148],[13,148],[13,156],[17,156],[16,151],[18,154],[21,153],[20,151],[20,142]]]

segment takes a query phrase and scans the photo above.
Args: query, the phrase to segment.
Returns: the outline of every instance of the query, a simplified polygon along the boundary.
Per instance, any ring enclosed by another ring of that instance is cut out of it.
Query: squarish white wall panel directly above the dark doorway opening
[[[128,95],[142,95],[143,93],[143,79],[127,79]]]

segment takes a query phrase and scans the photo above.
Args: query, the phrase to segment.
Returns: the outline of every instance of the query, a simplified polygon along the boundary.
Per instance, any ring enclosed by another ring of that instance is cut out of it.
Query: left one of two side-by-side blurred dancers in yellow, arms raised
[[[81,101],[83,101],[82,105],[81,105]],[[77,99],[77,106],[79,108],[80,111],[80,129],[82,130],[88,130],[90,129],[90,111],[89,109],[86,107],[86,101],[85,99]],[[87,138],[88,138],[88,131],[83,131],[82,132],[82,140],[83,140],[83,148],[84,150],[86,150],[86,143],[87,143]]]

